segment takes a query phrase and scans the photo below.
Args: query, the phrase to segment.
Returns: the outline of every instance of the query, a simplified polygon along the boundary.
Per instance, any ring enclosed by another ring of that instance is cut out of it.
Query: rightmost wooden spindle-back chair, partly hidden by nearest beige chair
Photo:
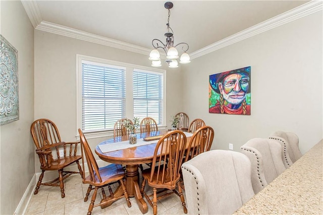
[[[212,127],[206,125],[197,129],[188,143],[184,161],[187,162],[203,152],[210,151],[213,138],[214,130]]]

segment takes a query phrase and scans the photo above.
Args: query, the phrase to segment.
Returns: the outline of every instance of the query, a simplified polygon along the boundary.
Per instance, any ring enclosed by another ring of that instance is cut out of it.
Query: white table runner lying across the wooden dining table
[[[193,134],[189,132],[184,132],[186,137],[190,137]],[[104,145],[99,145],[98,147],[100,148],[102,153],[107,153],[107,152],[113,152],[117,150],[124,150],[132,147],[140,147],[148,144],[155,144],[158,142],[158,139],[156,140],[151,140],[151,141],[145,141],[143,138],[138,138],[137,139],[137,144],[129,144],[129,140],[126,141],[120,141],[120,142],[113,142],[111,144],[104,144]]]

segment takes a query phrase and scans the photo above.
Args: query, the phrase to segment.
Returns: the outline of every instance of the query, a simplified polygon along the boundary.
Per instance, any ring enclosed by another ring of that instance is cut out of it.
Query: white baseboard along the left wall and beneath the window
[[[105,161],[102,161],[102,160],[98,160],[96,161],[97,165],[99,167],[103,167],[103,166],[106,166],[108,165],[109,163],[105,162]],[[82,161],[80,162],[80,165],[82,166]],[[85,163],[84,164],[84,167],[85,167],[85,172],[88,172],[88,169],[87,169],[87,164]],[[75,165],[70,165],[69,167],[67,168],[64,168],[64,170],[66,171],[79,171],[79,169],[77,168],[77,164]],[[38,172],[38,173],[35,173],[34,176],[32,177],[31,181],[29,182],[29,185],[24,193],[24,195],[22,196],[15,212],[14,212],[14,215],[18,215],[18,214],[25,214],[26,210],[27,210],[27,207],[28,207],[28,204],[30,202],[30,199],[34,193],[34,190],[36,188],[36,184],[37,184],[37,181],[39,179],[39,176],[40,176],[41,172]],[[59,176],[59,173],[58,171],[45,171],[44,172],[44,177],[42,179],[42,182],[46,182],[46,181],[51,181],[55,178],[57,178]]]

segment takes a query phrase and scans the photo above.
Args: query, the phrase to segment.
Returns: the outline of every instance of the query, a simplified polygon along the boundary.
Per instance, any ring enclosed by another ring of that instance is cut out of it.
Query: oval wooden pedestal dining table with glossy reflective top
[[[164,135],[167,132],[169,131],[160,130],[160,131],[152,131],[149,133],[140,133],[140,134],[137,134],[137,138],[159,136],[159,135]],[[134,144],[133,147],[128,149],[121,149],[121,150],[106,152],[106,153],[103,153],[99,148],[99,146],[102,146],[102,145],[111,144],[114,142],[126,141],[126,140],[129,140],[128,135],[104,140],[95,147],[95,153],[103,161],[114,163],[114,164],[126,165],[126,186],[127,186],[128,194],[130,197],[136,198],[139,209],[141,210],[142,213],[146,213],[148,211],[148,206],[140,193],[138,167],[139,167],[139,164],[152,162],[152,157],[158,140],[155,140],[155,142],[152,144],[138,146],[138,147],[136,147],[136,145]],[[115,197],[119,195],[120,196],[123,195],[123,191],[121,187],[118,187],[114,193]]]

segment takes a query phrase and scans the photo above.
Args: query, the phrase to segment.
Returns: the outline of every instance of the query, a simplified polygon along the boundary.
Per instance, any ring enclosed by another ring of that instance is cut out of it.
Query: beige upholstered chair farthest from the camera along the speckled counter
[[[298,136],[292,132],[275,131],[270,137],[275,136],[276,138],[284,138],[288,144],[288,154],[293,163],[302,157],[302,153],[298,147]],[[283,140],[282,140],[283,141]]]

